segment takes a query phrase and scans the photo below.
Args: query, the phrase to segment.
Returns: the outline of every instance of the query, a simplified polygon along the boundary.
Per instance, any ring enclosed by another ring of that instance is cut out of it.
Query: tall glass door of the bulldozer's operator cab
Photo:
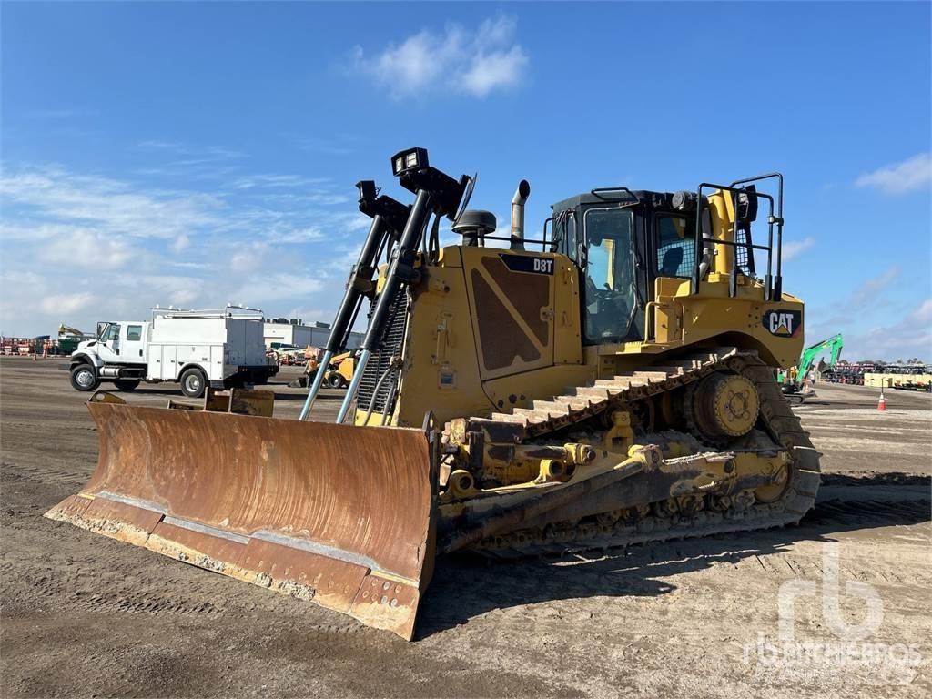
[[[619,341],[628,334],[635,307],[632,213],[590,209],[583,217],[586,240],[586,344]]]

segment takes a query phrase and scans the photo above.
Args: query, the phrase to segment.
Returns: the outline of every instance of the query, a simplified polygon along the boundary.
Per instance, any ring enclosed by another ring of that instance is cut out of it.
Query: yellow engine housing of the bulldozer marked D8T
[[[451,246],[425,274],[393,424],[420,426],[428,411],[443,422],[527,407],[593,376],[583,364],[578,275],[565,256]]]

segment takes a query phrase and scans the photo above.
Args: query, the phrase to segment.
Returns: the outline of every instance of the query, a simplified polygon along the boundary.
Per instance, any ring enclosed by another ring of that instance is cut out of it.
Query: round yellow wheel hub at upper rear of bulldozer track
[[[739,374],[714,372],[687,395],[690,427],[700,439],[722,444],[743,437],[757,423],[761,397],[757,387]]]

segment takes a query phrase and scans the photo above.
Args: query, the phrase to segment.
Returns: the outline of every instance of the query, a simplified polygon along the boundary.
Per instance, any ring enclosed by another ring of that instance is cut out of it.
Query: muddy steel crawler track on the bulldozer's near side
[[[706,509],[690,515],[661,516],[652,510],[649,515],[634,520],[623,519],[614,525],[600,526],[583,519],[572,525],[568,523],[566,527],[515,530],[496,535],[480,541],[473,548],[487,555],[505,557],[546,555],[798,523],[816,502],[820,482],[819,454],[808,433],[803,432],[799,418],[790,410],[774,380],[772,369],[761,362],[756,352],[717,348],[703,354],[691,354],[673,363],[652,366],[649,370],[599,379],[594,386],[576,388],[550,401],[535,401],[532,408],[495,413],[491,420],[519,426],[523,430],[523,437],[519,437],[521,441],[541,442],[555,432],[580,425],[599,413],[621,405],[637,405],[647,398],[678,390],[720,370],[741,374],[754,383],[761,399],[758,426],[790,453],[792,464],[788,486],[779,500],[755,503],[749,507],[733,505],[723,512]]]

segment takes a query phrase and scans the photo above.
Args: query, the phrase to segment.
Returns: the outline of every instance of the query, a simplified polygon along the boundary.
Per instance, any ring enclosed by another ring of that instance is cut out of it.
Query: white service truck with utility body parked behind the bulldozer
[[[77,391],[94,391],[102,381],[120,391],[142,381],[177,381],[190,398],[208,386],[264,384],[279,370],[266,356],[262,311],[242,307],[155,308],[150,322],[99,322],[97,336],[80,343],[61,368]]]

